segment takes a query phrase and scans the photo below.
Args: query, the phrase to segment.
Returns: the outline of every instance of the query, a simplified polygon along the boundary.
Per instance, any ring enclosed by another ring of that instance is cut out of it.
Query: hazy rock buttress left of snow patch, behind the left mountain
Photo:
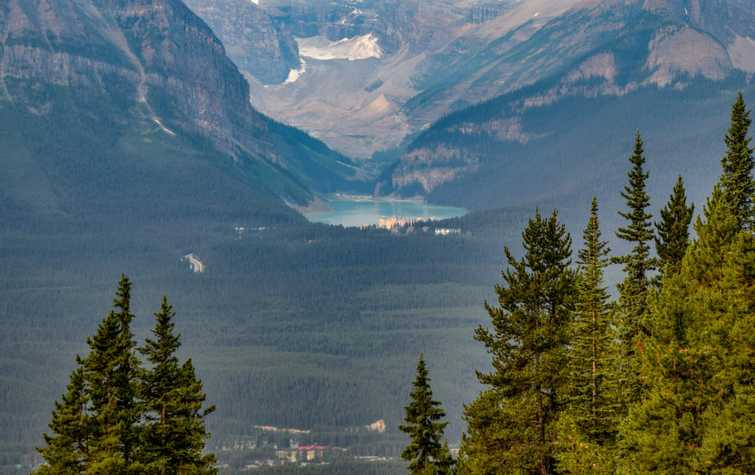
[[[271,15],[248,0],[186,0],[223,42],[242,71],[264,84],[280,84],[299,68],[296,40],[288,17]]]

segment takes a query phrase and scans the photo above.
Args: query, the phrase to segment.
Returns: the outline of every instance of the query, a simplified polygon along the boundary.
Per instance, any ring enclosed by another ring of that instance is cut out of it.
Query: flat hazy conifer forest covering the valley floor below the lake
[[[232,227],[207,221],[186,227],[164,222],[127,233],[116,223],[94,221],[96,233],[75,239],[68,233],[79,224],[40,224],[45,232],[54,230],[50,238],[0,244],[7,272],[0,300],[8,315],[27,323],[9,319],[3,326],[0,347],[11,382],[2,393],[0,425],[8,428],[8,440],[25,441],[26,452],[35,455],[52,401],[72,370],[66,355],[84,352],[85,331],[92,326],[87,322],[102,319],[97,307],[112,301],[113,269],[127,269],[138,282],[162,282],[149,287],[168,291],[174,307],[181,303],[181,350],[193,356],[208,400],[218,406],[208,420],[214,451],[234,434],[248,433],[248,421],[337,433],[384,418],[395,427],[411,390],[418,346],[440,349],[433,361],[445,371],[433,378],[433,393],[449,415],[449,443],[458,443],[461,405],[476,395],[473,369],[485,367],[484,351],[468,344],[469,335],[484,321],[479,303],[492,294],[501,269],[501,234],[485,230],[505,230],[511,219],[479,213],[473,226],[447,226],[470,229],[470,237],[399,238],[275,222],[247,230],[241,239]],[[315,242],[307,244],[309,239]],[[211,262],[208,271],[195,275],[180,263],[190,250]],[[59,278],[69,286],[56,285]],[[141,343],[152,322],[140,317],[157,310],[153,303],[162,292],[147,288],[134,298],[132,328]],[[42,304],[24,304],[29,300]],[[310,443],[356,444],[359,455],[399,457],[405,441],[394,430],[390,436],[376,433],[368,443],[346,433],[333,442]]]

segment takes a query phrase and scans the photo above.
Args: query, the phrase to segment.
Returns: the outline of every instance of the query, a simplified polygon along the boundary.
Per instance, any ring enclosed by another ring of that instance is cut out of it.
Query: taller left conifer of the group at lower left
[[[121,276],[113,302],[119,311],[111,310],[87,338],[88,356],[76,356],[69,392],[55,403],[50,428],[57,435],[45,434],[48,446],[38,449],[47,462],[43,473],[126,473],[139,466],[133,457],[140,408],[130,295],[131,281]]]

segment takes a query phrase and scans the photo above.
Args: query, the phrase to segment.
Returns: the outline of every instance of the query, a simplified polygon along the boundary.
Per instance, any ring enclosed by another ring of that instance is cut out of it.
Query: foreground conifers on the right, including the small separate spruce
[[[477,372],[483,389],[464,405],[454,464],[439,446],[445,414],[420,359],[399,427],[411,436],[402,454],[411,473],[755,473],[749,113],[740,92],[694,239],[681,176],[653,225],[639,131],[621,191],[627,224],[616,231],[630,252],[610,256],[594,196],[576,267],[557,212],[535,212],[524,256],[505,249],[498,302],[485,302],[492,327],[474,335],[492,371]],[[604,284],[609,264],[624,266],[618,301]]]

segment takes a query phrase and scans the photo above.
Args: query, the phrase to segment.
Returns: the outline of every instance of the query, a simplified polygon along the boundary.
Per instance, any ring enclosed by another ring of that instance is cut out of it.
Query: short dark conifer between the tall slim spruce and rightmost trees
[[[689,247],[689,224],[694,213],[694,204],[687,207],[684,182],[682,175],[679,175],[667,205],[661,209],[661,222],[655,223],[658,230],[655,251],[658,253],[661,276],[665,271],[679,273],[682,269],[682,258]]]

